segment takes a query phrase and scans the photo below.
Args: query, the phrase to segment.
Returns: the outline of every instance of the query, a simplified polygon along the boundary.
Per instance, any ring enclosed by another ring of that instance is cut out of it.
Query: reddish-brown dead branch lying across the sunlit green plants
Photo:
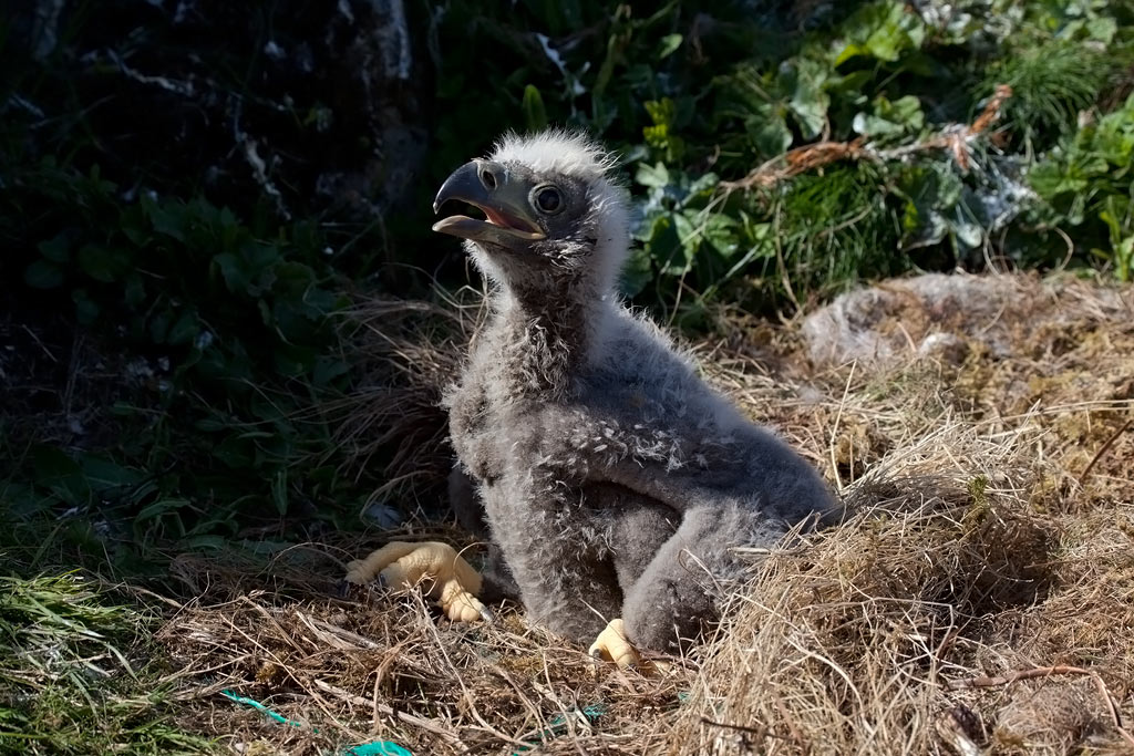
[[[772,158],[754,168],[742,179],[721,181],[718,186],[726,192],[733,192],[734,189],[767,189],[799,173],[805,173],[814,168],[821,168],[841,160],[873,160],[883,162],[887,160],[900,160],[907,155],[930,150],[949,150],[960,170],[967,171],[968,144],[987,131],[1000,118],[1000,109],[1010,96],[1010,86],[1007,84],[998,85],[992,97],[984,105],[984,110],[981,111],[981,114],[972,124],[967,126],[953,124],[936,136],[931,136],[922,142],[890,150],[878,150],[868,143],[865,137],[858,137],[850,142],[816,142],[814,144],[805,144],[794,150],[788,150],[782,155]]]

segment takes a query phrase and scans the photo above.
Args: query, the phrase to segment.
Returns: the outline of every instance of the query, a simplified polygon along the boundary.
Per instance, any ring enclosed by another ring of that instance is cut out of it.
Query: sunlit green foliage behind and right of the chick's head
[[[442,45],[439,96],[454,126],[439,131],[438,169],[457,160],[448,145],[484,144],[501,126],[550,120],[601,135],[625,155],[642,202],[626,290],[643,304],[686,290],[767,308],[784,306],[788,287],[823,292],[913,266],[1063,261],[1065,248],[1033,233],[1043,204],[1027,177],[1082,130],[1080,113],[1105,116],[1128,86],[1129,3],[782,5],[670,2],[638,16],[602,2],[515,14],[451,3],[442,29],[474,34],[467,48]],[[499,85],[491,108],[469,77]],[[1013,96],[998,129],[968,141],[960,160],[916,148],[972,122],[1001,84]],[[514,116],[486,122],[474,107]],[[471,122],[471,134],[456,130]],[[874,147],[858,165],[721,192],[722,179],[789,150],[854,138]],[[1068,222],[1043,216],[1044,228]],[[1072,257],[1118,269],[1120,244],[1077,244]]]

